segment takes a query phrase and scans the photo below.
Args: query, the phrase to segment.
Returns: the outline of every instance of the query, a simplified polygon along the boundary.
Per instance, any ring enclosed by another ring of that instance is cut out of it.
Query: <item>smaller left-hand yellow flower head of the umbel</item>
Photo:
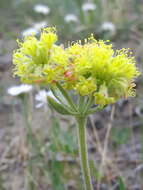
[[[43,29],[39,40],[31,35],[18,42],[19,49],[13,54],[14,74],[24,83],[49,84],[55,78],[61,79],[67,55],[61,46],[55,45],[56,41],[56,30],[52,27]]]

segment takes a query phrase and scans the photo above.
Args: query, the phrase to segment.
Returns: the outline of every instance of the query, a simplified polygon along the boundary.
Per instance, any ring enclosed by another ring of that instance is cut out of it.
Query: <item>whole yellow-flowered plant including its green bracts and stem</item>
[[[56,45],[57,39],[55,28],[45,28],[39,39],[31,35],[18,41],[19,48],[13,54],[14,74],[23,83],[48,86],[58,100],[48,98],[49,104],[59,113],[76,118],[84,187],[91,190],[86,118],[120,98],[134,96],[134,79],[139,71],[131,52],[114,50],[109,41],[97,41],[91,35],[64,48]],[[78,95],[77,102],[69,91]],[[92,108],[94,104],[97,106]]]

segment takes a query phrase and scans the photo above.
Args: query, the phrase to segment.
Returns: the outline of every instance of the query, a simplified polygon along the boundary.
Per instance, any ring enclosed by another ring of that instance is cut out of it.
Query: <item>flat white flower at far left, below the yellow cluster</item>
[[[28,93],[32,90],[32,85],[21,84],[19,86],[12,86],[7,90],[7,93],[11,96],[18,96],[23,93]]]

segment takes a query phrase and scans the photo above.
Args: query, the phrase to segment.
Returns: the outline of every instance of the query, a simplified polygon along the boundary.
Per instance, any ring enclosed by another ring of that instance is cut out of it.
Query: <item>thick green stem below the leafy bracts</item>
[[[86,118],[76,117],[78,123],[78,143],[79,143],[79,155],[81,161],[81,168],[84,180],[84,189],[93,190],[90,176],[90,169],[88,163],[88,149],[86,141]]]

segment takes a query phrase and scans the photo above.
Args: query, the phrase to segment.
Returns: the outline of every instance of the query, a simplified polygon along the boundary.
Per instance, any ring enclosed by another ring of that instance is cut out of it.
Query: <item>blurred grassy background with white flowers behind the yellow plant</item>
[[[47,89],[21,85],[12,74],[16,39],[46,26],[56,26],[65,47],[93,33],[131,48],[142,71],[142,0],[0,0],[0,190],[83,188],[74,119],[49,109]],[[143,189],[142,76],[136,84],[135,98],[88,119],[95,190]]]

